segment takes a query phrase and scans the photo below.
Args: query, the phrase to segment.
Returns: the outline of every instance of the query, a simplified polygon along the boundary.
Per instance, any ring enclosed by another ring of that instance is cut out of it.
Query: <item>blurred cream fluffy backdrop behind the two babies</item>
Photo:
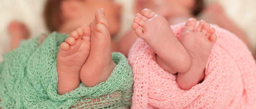
[[[46,0],[0,0],[0,54],[10,51],[10,35],[8,25],[11,21],[19,21],[27,25],[30,36],[48,32],[42,17]],[[119,37],[131,29],[135,13],[133,13],[134,0],[116,0],[123,4],[122,26]],[[256,0],[205,0],[205,3],[219,3],[235,24],[246,32],[251,43],[251,51],[256,49]],[[3,58],[0,56],[0,62]]]

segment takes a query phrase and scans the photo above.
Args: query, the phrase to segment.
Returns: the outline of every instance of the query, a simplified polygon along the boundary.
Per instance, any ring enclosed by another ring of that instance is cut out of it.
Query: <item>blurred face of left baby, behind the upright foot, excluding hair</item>
[[[114,3],[113,0],[83,0],[83,6],[82,17],[86,17],[90,22],[94,20],[95,12],[99,8],[104,8],[110,35],[113,36],[119,31],[121,5]]]

